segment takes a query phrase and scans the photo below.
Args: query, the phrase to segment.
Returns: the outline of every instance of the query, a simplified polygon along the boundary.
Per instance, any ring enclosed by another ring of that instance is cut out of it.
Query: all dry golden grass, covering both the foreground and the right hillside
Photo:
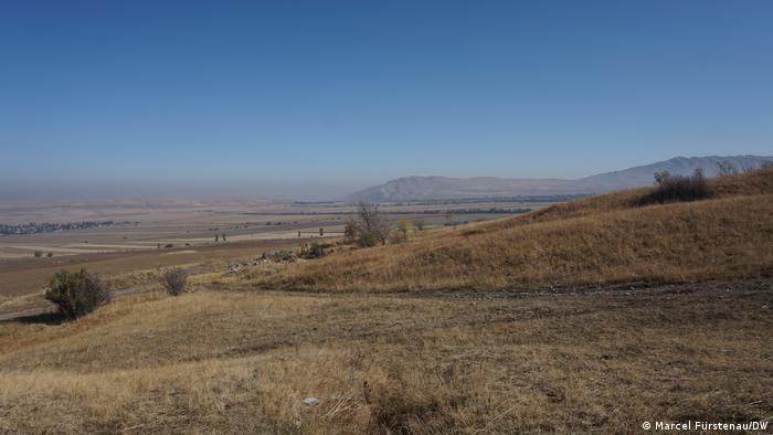
[[[634,209],[646,190],[622,192],[191,279],[308,294],[156,289],[74,322],[0,321],[0,432],[632,433],[770,420],[771,173],[712,181],[709,201]],[[744,279],[448,291],[710,277]],[[395,289],[438,291],[373,291]]]

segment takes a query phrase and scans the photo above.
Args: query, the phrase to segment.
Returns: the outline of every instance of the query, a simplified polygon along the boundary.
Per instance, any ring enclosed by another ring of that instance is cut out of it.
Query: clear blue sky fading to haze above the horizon
[[[3,1],[0,199],[771,155],[772,23],[769,0]]]

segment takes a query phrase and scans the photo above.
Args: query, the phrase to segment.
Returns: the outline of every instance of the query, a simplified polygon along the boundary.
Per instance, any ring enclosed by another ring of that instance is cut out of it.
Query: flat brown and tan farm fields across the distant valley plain
[[[470,210],[539,209],[550,202],[385,204],[394,220],[427,227],[508,215]],[[462,210],[462,211],[459,211]],[[0,297],[39,291],[60,268],[118,276],[172,266],[223,267],[230,259],[297,248],[313,238],[340,237],[351,204],[261,201],[116,201],[81,204],[3,204],[0,223],[129,222],[124,225],[0,236]],[[448,215],[448,212],[452,215]],[[300,235],[298,234],[300,233]],[[215,234],[219,242],[214,242]],[[222,237],[225,235],[226,241]],[[170,247],[167,247],[171,245]],[[35,258],[34,253],[41,253]],[[47,253],[52,256],[47,257]],[[1,310],[1,309],[0,309]]]

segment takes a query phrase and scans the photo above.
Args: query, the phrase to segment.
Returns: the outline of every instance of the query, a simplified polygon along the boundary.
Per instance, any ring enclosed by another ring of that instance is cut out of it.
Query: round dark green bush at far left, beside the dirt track
[[[108,303],[110,293],[97,275],[85,269],[60,270],[51,278],[45,298],[54,303],[65,318],[72,320]]]

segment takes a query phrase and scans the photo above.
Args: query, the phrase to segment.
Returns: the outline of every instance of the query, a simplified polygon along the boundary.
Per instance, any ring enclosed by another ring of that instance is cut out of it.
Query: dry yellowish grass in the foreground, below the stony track
[[[771,279],[146,291],[0,322],[0,432],[634,433],[770,420],[772,378]]]

